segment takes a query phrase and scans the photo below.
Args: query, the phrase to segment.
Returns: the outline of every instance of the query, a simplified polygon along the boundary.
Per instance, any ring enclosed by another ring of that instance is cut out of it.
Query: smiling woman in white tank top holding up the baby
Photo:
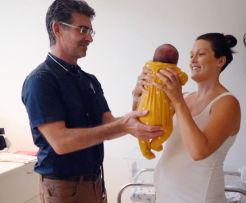
[[[166,92],[175,109],[174,130],[155,170],[157,203],[225,203],[223,162],[240,128],[238,100],[220,83],[232,61],[235,37],[220,33],[199,36],[190,54],[191,78],[197,90],[182,94],[177,74],[162,69],[164,86],[144,70],[133,91],[154,84]],[[164,129],[165,130],[165,129]]]

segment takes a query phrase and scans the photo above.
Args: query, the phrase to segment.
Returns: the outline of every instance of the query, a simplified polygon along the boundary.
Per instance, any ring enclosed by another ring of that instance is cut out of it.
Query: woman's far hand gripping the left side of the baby
[[[153,82],[153,78],[151,77],[152,71],[148,69],[146,66],[143,67],[142,73],[138,76],[137,84],[132,91],[133,96],[133,106],[132,109],[136,110],[139,98],[142,93],[147,91],[146,87],[151,85]]]

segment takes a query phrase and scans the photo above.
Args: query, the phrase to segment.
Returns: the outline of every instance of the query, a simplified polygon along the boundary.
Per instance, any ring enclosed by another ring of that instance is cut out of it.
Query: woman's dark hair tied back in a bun
[[[237,39],[232,35],[224,35],[222,33],[206,33],[197,37],[197,40],[207,40],[211,43],[216,58],[226,57],[226,63],[221,68],[221,72],[233,60],[232,54],[235,53],[231,48],[236,46]]]

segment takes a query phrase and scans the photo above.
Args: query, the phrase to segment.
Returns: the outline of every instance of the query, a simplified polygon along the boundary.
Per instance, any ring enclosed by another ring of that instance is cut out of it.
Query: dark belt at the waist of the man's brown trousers
[[[73,182],[82,181],[96,181],[100,177],[100,174],[84,174],[81,176],[53,176],[53,175],[42,175],[42,178],[51,180],[67,180]]]

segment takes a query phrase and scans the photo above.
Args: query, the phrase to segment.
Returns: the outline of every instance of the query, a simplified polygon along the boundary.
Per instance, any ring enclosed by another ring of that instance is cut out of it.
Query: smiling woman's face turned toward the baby
[[[190,52],[191,78],[195,81],[210,79],[220,73],[220,58],[215,58],[211,43],[196,40]]]

